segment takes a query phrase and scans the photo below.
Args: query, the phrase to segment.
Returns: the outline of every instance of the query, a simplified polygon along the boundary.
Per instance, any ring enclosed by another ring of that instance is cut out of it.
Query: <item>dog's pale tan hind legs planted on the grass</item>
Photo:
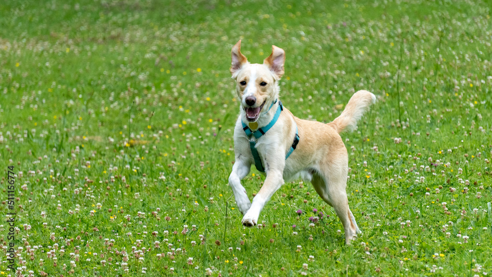
[[[338,161],[341,162],[341,161]],[[348,207],[347,170],[343,163],[323,163],[313,174],[312,185],[321,198],[335,209],[345,230],[345,244],[360,233],[355,217]],[[346,158],[344,159],[346,164]]]

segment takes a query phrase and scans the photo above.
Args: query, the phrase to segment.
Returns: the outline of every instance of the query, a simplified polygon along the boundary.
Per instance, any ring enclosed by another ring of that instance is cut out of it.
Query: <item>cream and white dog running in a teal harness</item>
[[[349,244],[361,231],[348,207],[348,154],[339,133],[355,129],[376,97],[368,91],[354,93],[341,115],[330,123],[302,120],[278,100],[278,83],[284,73],[283,49],[273,45],[272,54],[263,64],[251,64],[241,54],[239,40],[231,54],[230,72],[241,109],[234,128],[235,162],[229,186],[244,215],[242,224],[256,225],[261,210],[284,180],[301,177],[310,181],[319,196],[335,209],[345,231],[345,243]],[[250,202],[241,180],[253,164],[266,178]]]

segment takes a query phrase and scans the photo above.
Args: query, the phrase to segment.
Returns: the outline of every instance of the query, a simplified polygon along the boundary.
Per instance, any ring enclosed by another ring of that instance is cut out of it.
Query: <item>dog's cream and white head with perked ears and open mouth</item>
[[[263,64],[249,63],[241,54],[241,40],[232,47],[232,78],[236,92],[246,112],[246,120],[255,122],[263,108],[265,112],[278,97],[278,80],[283,75],[285,51],[272,45],[272,54]]]

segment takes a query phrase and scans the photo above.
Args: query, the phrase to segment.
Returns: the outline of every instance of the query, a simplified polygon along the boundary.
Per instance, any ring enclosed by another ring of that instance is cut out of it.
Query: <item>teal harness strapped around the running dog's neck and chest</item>
[[[277,103],[277,100],[275,100],[275,102],[272,103],[272,105],[270,106],[270,109],[273,107],[273,105],[275,103]],[[268,109],[268,111],[270,111],[270,109]],[[256,139],[259,139],[268,130],[270,130],[270,128],[273,127],[273,125],[277,122],[278,117],[280,117],[280,113],[282,111],[283,111],[282,102],[278,101],[277,112],[275,113],[275,116],[272,119],[272,121],[270,123],[268,123],[268,125],[261,127],[261,128],[258,128],[258,130],[254,131],[254,132],[244,122],[241,122],[241,123],[243,123],[243,130],[246,132],[246,136],[248,136],[250,138],[251,135],[253,135]],[[296,126],[296,136],[294,137],[294,142],[292,143],[292,146],[290,147],[289,151],[287,152],[287,154],[285,154],[285,159],[287,159],[290,156],[290,154],[292,154],[292,152],[294,152],[294,149],[296,149],[298,143],[299,143],[299,134],[297,132],[297,126]],[[251,149],[251,154],[253,155],[253,158],[254,158],[254,166],[256,167],[256,169],[259,172],[264,173],[265,167],[263,166],[263,163],[261,162],[260,154],[256,150],[256,142],[250,140],[249,141],[249,148]]]

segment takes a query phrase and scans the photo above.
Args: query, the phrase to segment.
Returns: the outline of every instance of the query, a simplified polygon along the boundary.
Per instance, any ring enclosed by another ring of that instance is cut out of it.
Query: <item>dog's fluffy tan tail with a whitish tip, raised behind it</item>
[[[338,133],[353,131],[357,122],[362,118],[369,106],[376,102],[376,96],[368,91],[355,92],[347,103],[341,115],[334,121],[328,123]]]

